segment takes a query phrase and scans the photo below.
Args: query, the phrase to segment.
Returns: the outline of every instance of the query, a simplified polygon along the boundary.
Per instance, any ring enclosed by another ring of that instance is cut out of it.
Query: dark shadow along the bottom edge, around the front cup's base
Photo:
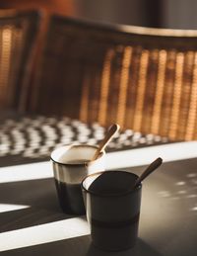
[[[138,239],[136,246],[126,251],[101,251],[94,247],[90,235],[6,251],[1,256],[39,256],[47,253],[55,256],[163,256],[142,239]]]

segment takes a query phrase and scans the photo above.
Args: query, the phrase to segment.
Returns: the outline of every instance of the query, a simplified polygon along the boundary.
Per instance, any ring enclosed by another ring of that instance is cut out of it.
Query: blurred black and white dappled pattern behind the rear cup
[[[73,142],[98,144],[106,128],[99,124],[91,126],[69,118],[33,117],[6,119],[0,125],[0,159],[20,156],[29,159],[44,159],[61,145]],[[153,134],[143,135],[126,129],[115,135],[107,151],[136,148],[168,142],[167,138]]]

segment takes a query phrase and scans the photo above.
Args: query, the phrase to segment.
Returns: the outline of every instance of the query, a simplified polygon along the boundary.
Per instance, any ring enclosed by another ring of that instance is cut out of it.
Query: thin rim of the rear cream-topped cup
[[[60,162],[60,161],[55,160],[54,157],[52,157],[52,154],[54,154],[54,152],[55,152],[56,150],[59,150],[60,148],[64,148],[64,147],[68,147],[68,146],[70,146],[70,147],[87,146],[87,147],[92,147],[92,148],[96,148],[96,149],[99,148],[98,145],[91,145],[91,144],[80,144],[80,143],[65,144],[65,145],[59,146],[59,147],[55,148],[54,150],[52,150],[52,152],[51,152],[51,154],[50,154],[50,160],[51,160],[52,162],[54,162],[54,163],[57,163],[57,164],[60,164],[60,165],[63,165],[63,166],[80,166],[80,165],[83,165],[83,166],[84,166],[84,165],[87,165],[87,166],[88,166],[89,164],[98,161],[98,160],[100,159],[100,157],[105,154],[105,151],[103,150],[103,151],[101,151],[101,152],[99,153],[99,157],[98,157],[96,160],[90,160],[89,162],[84,162],[84,163],[62,163],[62,162]]]

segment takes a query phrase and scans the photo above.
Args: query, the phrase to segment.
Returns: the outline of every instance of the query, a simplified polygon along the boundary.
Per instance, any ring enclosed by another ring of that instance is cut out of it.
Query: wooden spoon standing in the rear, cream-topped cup
[[[111,140],[112,136],[115,134],[115,132],[119,129],[120,127],[117,124],[112,125],[106,132],[106,135],[104,138],[101,140],[99,143],[99,148],[97,149],[92,161],[96,160],[99,157],[99,153],[104,150],[106,145],[109,143]]]

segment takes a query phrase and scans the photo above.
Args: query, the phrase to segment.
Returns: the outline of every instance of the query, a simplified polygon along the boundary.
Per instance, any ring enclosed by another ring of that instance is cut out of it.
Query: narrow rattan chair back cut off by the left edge
[[[0,11],[0,110],[25,110],[39,19],[37,11]]]

